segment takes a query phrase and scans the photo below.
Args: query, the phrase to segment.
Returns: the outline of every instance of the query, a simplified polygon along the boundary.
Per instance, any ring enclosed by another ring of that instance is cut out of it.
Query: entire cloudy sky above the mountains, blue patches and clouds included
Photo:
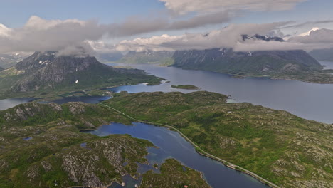
[[[0,0],[0,53],[310,51],[332,47],[332,7],[332,0]],[[300,36],[312,28],[319,29]],[[255,33],[286,42],[240,41]]]

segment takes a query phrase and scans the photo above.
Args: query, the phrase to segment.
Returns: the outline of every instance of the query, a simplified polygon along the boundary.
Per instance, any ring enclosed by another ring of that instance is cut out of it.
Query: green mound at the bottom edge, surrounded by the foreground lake
[[[152,170],[143,174],[143,180],[140,187],[179,187],[184,188],[208,188],[209,185],[203,180],[200,172],[194,169],[184,167],[180,162],[174,159],[165,160],[161,165],[160,174],[155,174]]]

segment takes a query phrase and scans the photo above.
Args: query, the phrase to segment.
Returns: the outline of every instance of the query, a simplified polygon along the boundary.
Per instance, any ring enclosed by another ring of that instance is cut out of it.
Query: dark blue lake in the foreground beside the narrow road
[[[162,164],[166,158],[173,157],[187,167],[203,172],[205,179],[212,187],[266,187],[247,174],[229,169],[221,162],[199,155],[194,150],[194,147],[181,137],[178,132],[164,127],[156,127],[144,123],[134,123],[134,126],[112,123],[111,125],[103,125],[95,131],[90,131],[90,133],[98,136],[129,134],[132,137],[149,140],[159,147],[159,149],[149,148],[147,159],[150,164]]]

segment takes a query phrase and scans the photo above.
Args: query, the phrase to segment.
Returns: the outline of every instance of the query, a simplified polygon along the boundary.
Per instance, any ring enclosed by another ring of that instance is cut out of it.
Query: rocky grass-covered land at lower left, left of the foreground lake
[[[125,174],[138,178],[137,163],[147,162],[144,156],[151,142],[129,135],[97,137],[80,132],[111,121],[131,123],[100,105],[86,103],[25,103],[0,111],[0,187],[107,187],[121,183]],[[175,160],[172,165],[181,166]],[[179,172],[177,177],[164,174],[171,180],[166,187],[189,180],[206,184],[199,172],[189,172]],[[154,182],[149,178],[154,177],[147,175],[144,181]]]

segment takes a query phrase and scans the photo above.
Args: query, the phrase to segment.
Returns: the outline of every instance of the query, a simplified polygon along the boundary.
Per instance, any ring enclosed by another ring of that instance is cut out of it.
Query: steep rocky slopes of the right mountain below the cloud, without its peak
[[[320,70],[322,66],[305,51],[235,52],[213,48],[203,51],[176,51],[174,65],[221,73],[263,75]]]

